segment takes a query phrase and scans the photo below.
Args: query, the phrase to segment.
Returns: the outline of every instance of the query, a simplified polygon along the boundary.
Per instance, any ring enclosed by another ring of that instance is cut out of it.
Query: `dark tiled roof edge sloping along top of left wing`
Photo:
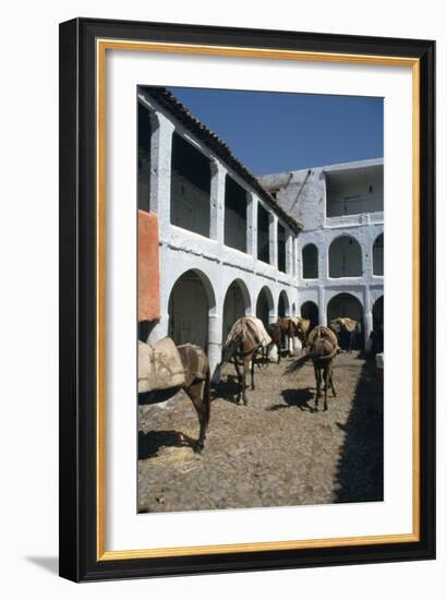
[[[204,142],[219,158],[229,165],[234,172],[250,183],[258,193],[259,197],[265,200],[293,231],[298,232],[302,229],[301,223],[295,220],[279,206],[274,196],[259,183],[256,177],[232,154],[228,145],[220,140],[216,133],[196,119],[173,94],[166,89],[166,87],[141,86],[140,89],[152,96],[162,108],[173,115],[178,121],[195,135],[195,137]]]

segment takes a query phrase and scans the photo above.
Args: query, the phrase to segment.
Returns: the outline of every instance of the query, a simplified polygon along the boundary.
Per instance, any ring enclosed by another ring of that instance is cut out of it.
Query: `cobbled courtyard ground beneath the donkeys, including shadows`
[[[383,394],[373,361],[336,359],[328,410],[314,411],[312,364],[285,376],[256,368],[249,406],[234,404],[233,371],[215,391],[205,451],[179,393],[138,407],[141,512],[286,506],[383,499]],[[322,403],[319,405],[322,410]]]

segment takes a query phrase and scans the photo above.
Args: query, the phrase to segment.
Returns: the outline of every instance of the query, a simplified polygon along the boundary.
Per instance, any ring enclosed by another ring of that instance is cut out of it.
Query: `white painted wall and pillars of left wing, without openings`
[[[152,144],[154,152],[150,159],[150,205],[158,214],[160,233],[161,319],[150,332],[148,341],[155,343],[169,335],[173,326],[179,341],[192,341],[205,347],[212,373],[214,373],[221,360],[221,349],[225,343],[222,336],[228,328],[228,323],[225,322],[225,298],[234,279],[241,279],[246,288],[246,302],[242,314],[255,315],[257,297],[264,286],[270,290],[273,297],[273,305],[269,311],[270,321],[277,319],[280,292],[286,295],[286,314],[292,315],[293,305],[295,311],[298,310],[298,281],[295,272],[291,268],[292,233],[289,228],[286,229],[286,236],[290,236],[290,241],[286,244],[286,262],[289,273],[282,273],[277,268],[278,216],[273,208],[267,206],[265,201],[261,201],[249,184],[232,172],[202,141],[196,140],[191,132],[184,130],[183,125],[169,111],[162,109],[150,95],[142,91],[140,100],[148,107],[153,120],[158,123],[158,128],[153,134]],[[197,190],[195,185],[192,185],[183,177],[179,177],[178,173],[171,172],[171,140],[174,131],[188,139],[210,160],[213,167],[209,201],[206,194]],[[250,228],[245,224],[242,227],[242,219],[235,219],[232,212],[225,209],[227,175],[242,185],[251,197],[247,211],[247,216],[251,218]],[[176,223],[186,227],[180,227],[172,223],[173,200],[178,205],[177,214],[181,214],[185,218],[185,223],[177,219]],[[197,209],[197,205],[201,203],[206,205],[203,211],[205,215],[206,208],[210,206],[209,227],[207,226],[207,216],[204,217]],[[257,231],[257,211],[253,209],[253,205],[256,203],[261,203],[269,212],[270,264],[257,260],[257,250],[254,244],[254,236]],[[225,233],[228,229],[225,224],[226,217],[231,219],[230,225],[234,225],[234,242],[240,242],[243,233],[246,240],[246,252],[226,245]],[[209,237],[201,235],[198,231],[202,233],[209,231]],[[186,286],[184,288],[184,305],[180,308],[181,296],[179,295],[179,300],[172,304],[171,292],[180,277],[190,269],[194,269],[201,278],[206,289],[207,302],[203,302],[201,299],[195,303],[192,291],[194,288]],[[170,313],[172,307],[178,307],[174,309],[174,314]],[[234,310],[240,312],[240,307],[235,307]],[[229,315],[230,312],[227,311],[227,319]],[[204,323],[207,324],[206,333]]]

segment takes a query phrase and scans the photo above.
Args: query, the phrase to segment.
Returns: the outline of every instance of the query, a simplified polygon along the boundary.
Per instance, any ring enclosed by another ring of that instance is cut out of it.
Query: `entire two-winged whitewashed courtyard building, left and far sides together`
[[[197,344],[214,372],[243,315],[351,316],[364,340],[383,323],[379,159],[256,178],[169,92],[140,87],[138,209],[159,236],[144,340]]]

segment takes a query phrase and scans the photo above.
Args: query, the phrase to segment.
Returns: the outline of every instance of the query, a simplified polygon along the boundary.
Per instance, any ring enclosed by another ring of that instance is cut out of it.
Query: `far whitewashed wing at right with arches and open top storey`
[[[364,343],[383,326],[384,163],[361,160],[264,176],[261,183],[302,223],[299,311],[326,325],[361,323]]]

